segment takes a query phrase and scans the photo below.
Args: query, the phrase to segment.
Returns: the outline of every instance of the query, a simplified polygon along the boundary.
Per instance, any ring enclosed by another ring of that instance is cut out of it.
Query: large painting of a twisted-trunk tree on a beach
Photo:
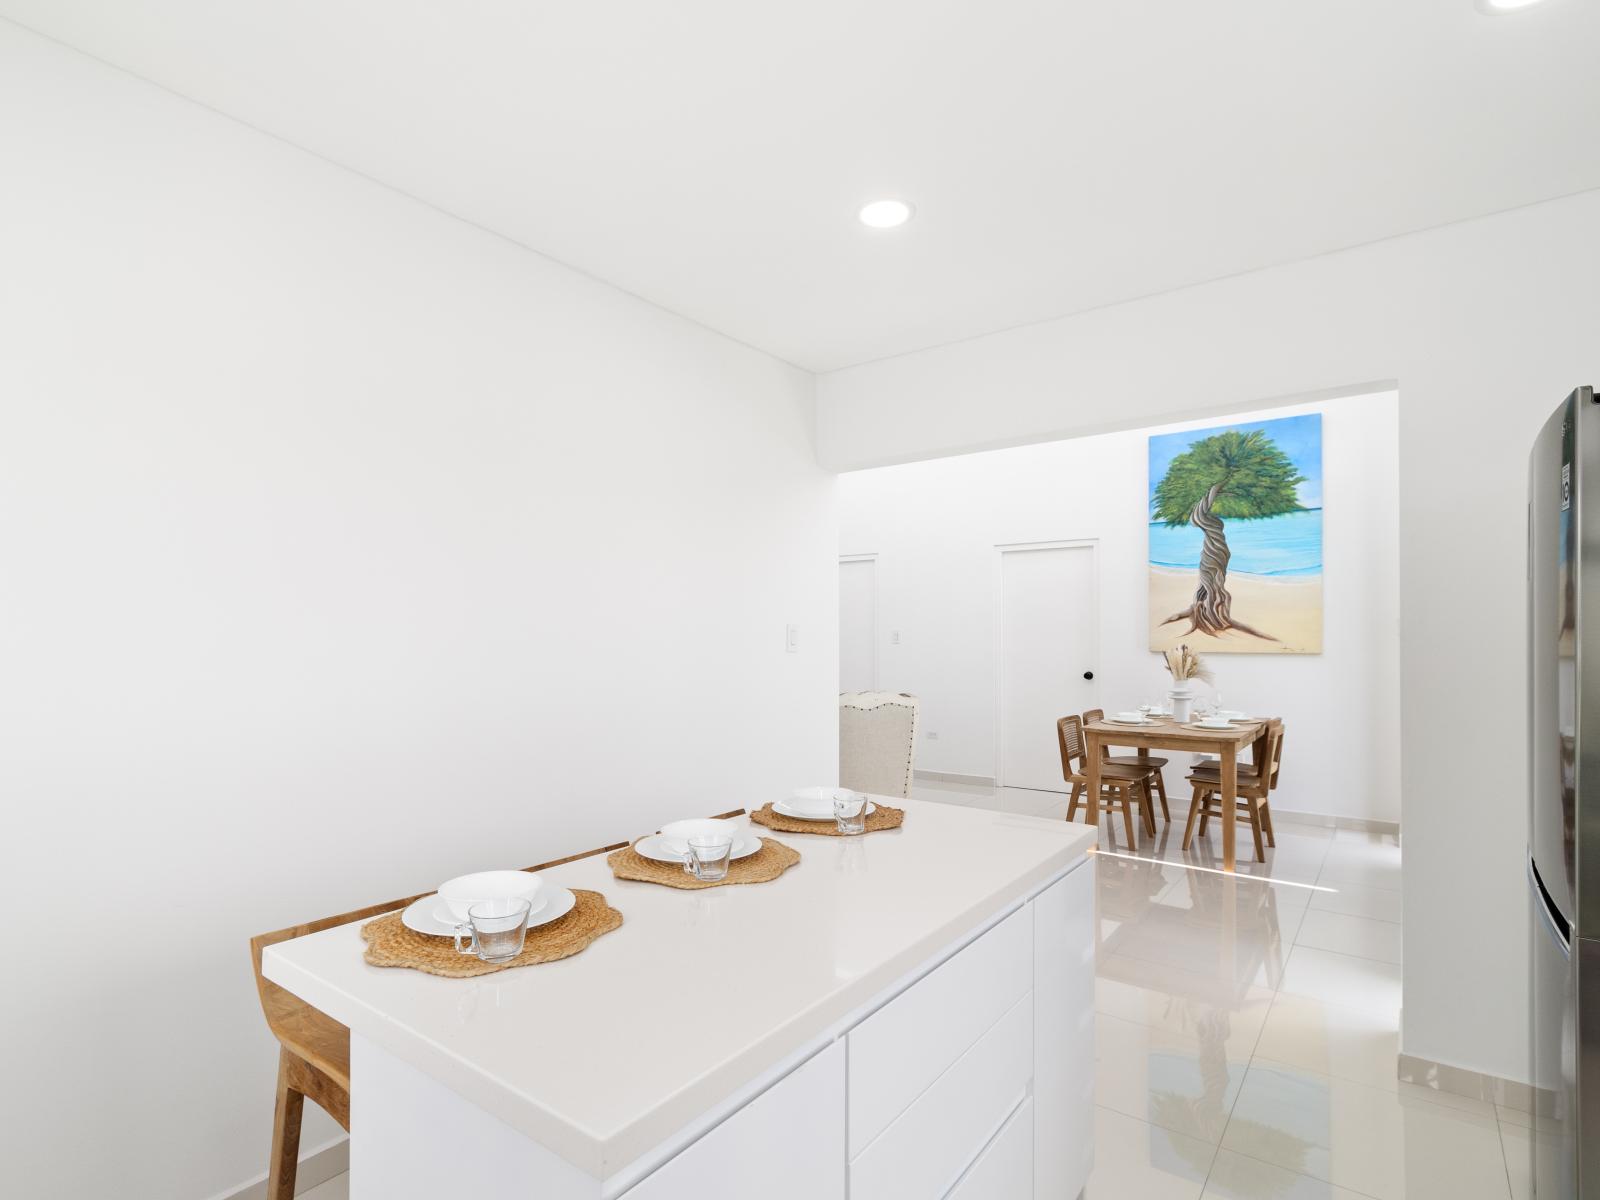
[[[1322,414],[1150,438],[1150,650],[1322,653]]]

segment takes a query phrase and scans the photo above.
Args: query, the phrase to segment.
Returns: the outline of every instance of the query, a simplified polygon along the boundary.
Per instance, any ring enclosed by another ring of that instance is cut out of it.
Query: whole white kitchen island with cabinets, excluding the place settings
[[[557,963],[374,968],[354,925],[269,947],[350,1027],[352,1200],[1078,1195],[1094,830],[886,803],[904,827],[755,826],[803,856],[771,883],[544,872],[624,915]]]

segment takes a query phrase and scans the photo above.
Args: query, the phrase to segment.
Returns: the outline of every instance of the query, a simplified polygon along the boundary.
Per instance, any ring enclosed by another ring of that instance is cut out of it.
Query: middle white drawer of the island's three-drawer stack
[[[936,1200],[1027,1094],[1034,995],[1024,994],[850,1165],[850,1200]]]

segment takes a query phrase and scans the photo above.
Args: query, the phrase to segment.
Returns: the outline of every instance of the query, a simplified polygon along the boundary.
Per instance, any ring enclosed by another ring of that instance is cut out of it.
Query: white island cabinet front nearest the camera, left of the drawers
[[[845,1043],[835,1042],[621,1200],[845,1200],[843,1104]]]

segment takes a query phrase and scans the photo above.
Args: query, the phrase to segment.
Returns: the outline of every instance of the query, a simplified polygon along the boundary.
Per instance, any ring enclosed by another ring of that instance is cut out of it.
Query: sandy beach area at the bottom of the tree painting
[[[1320,654],[1322,653],[1322,574],[1272,578],[1230,571],[1227,592],[1234,597],[1234,616],[1246,626],[1270,634],[1262,642],[1250,634],[1226,637],[1186,634],[1187,621],[1157,624],[1173,613],[1189,608],[1195,594],[1195,571],[1150,566],[1150,650],[1171,650],[1187,643],[1202,654]]]

